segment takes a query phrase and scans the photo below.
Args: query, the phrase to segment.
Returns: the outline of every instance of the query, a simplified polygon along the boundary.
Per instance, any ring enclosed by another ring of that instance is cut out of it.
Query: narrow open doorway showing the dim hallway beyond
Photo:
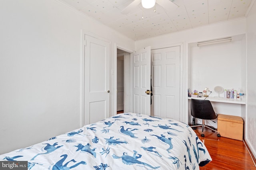
[[[116,59],[116,111],[131,111],[131,68],[130,53],[117,49]]]

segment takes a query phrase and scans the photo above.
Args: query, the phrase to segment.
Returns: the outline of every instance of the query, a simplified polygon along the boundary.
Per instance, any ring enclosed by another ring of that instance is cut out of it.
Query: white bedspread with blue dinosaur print
[[[121,113],[0,155],[30,170],[199,170],[212,160],[185,123]]]

